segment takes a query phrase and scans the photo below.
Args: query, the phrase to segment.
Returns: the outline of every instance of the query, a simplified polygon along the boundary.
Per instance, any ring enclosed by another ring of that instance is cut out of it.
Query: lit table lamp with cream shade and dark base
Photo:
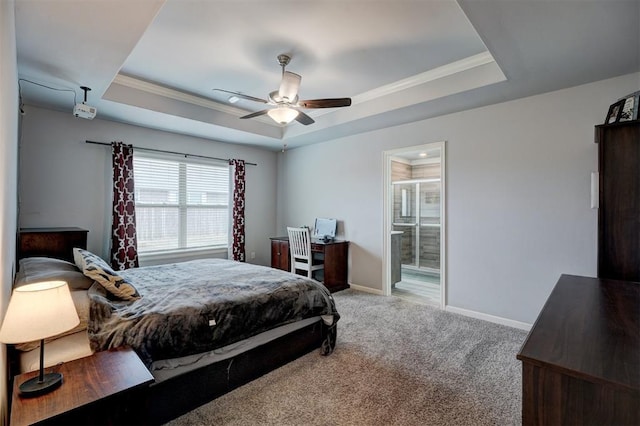
[[[80,324],[69,286],[64,281],[27,284],[13,290],[0,328],[0,342],[40,340],[40,374],[20,384],[23,396],[36,396],[62,384],[62,374],[44,374],[44,339]]]

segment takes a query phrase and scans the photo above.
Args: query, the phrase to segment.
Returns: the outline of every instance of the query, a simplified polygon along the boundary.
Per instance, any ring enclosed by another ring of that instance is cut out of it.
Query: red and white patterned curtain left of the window
[[[113,158],[113,224],[111,266],[116,271],[138,267],[136,205],[133,185],[133,146],[111,144]]]

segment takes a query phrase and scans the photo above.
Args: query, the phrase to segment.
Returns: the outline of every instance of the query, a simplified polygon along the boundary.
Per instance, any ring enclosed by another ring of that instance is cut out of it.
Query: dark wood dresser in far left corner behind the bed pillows
[[[87,231],[81,228],[20,228],[18,259],[55,257],[73,263],[73,248],[87,248]]]

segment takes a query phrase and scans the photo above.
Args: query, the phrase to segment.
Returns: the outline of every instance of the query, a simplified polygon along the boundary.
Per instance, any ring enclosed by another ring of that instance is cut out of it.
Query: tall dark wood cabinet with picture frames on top
[[[598,277],[640,281],[640,122],[596,126]]]

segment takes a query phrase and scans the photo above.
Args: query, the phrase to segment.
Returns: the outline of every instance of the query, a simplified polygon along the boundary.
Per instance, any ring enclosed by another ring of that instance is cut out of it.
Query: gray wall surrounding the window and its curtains
[[[257,163],[246,167],[247,260],[270,264],[269,237],[274,235],[276,223],[276,153],[98,118],[83,120],[70,111],[26,108],[20,144],[21,227],[86,228],[89,250],[107,257],[111,150],[85,140],[117,140],[143,148]],[[256,253],[255,259],[250,259],[251,252]]]

